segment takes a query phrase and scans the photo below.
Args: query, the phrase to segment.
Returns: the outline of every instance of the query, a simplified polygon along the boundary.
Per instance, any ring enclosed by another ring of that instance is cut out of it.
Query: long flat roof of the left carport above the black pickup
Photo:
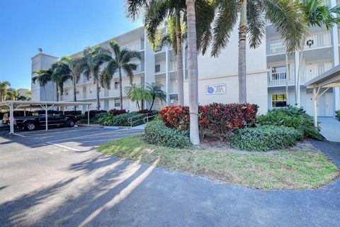
[[[24,107],[41,107],[42,105],[47,106],[78,106],[78,105],[91,105],[91,102],[84,102],[84,101],[1,101],[0,102],[0,109],[8,109],[8,106],[13,105],[14,107],[20,106],[21,108]]]

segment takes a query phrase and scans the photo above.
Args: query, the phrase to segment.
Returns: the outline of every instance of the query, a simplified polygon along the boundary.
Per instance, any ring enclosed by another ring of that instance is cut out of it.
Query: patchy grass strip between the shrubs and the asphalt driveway
[[[323,153],[307,149],[268,155],[176,149],[149,145],[142,135],[137,135],[106,143],[98,150],[129,160],[157,163],[157,167],[166,170],[265,190],[315,189],[339,176],[339,169]]]

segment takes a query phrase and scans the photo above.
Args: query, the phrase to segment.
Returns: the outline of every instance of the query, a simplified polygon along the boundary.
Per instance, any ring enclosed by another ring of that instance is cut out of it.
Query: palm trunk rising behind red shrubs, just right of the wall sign
[[[241,1],[239,20],[239,104],[246,103],[246,0]]]

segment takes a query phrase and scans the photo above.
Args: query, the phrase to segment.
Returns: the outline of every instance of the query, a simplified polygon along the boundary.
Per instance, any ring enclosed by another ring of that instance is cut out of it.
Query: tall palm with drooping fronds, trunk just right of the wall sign
[[[307,26],[295,0],[216,1],[212,56],[217,56],[229,42],[239,13],[239,103],[246,103],[246,35],[250,48],[257,48],[265,34],[266,20],[283,37],[288,52],[302,48]]]

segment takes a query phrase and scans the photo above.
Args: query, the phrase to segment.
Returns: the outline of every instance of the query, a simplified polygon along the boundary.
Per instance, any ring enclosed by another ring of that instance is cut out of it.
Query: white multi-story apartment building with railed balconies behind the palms
[[[331,0],[330,4],[335,6],[336,1]],[[223,50],[219,57],[207,55],[198,56],[198,100],[200,104],[211,102],[232,103],[238,101],[238,34],[237,29],[231,35],[227,48]],[[166,32],[166,28],[164,28]],[[339,65],[339,31],[332,28],[311,28],[310,46],[305,46],[302,55],[301,75],[300,75],[300,104],[306,109],[308,114],[313,114],[312,91],[305,89],[305,82],[317,77],[319,74],[329,70],[335,65]],[[145,28],[140,27],[129,31],[123,35],[113,38],[122,48],[137,50],[141,54],[141,60],[132,60],[138,64],[135,71],[134,82],[146,84],[156,82],[163,84],[162,89],[166,92],[166,102],[168,105],[177,104],[177,74],[176,56],[173,55],[171,46],[152,50],[147,42]],[[110,40],[99,43],[104,48],[109,48]],[[80,55],[81,52],[74,55]],[[57,57],[39,53],[32,57],[32,70],[40,70],[50,67]],[[278,108],[289,104],[295,104],[295,79],[300,63],[300,53],[295,52],[288,55],[286,64],[285,45],[276,32],[276,29],[268,24],[266,26],[266,38],[263,38],[259,48],[246,50],[247,64],[247,101],[258,104],[260,113],[265,113],[268,109]],[[105,66],[105,65],[104,65]],[[183,68],[184,68],[184,101],[188,105],[188,71],[187,71],[187,50],[183,45]],[[101,88],[100,103],[101,109],[120,108],[118,74],[114,75],[111,82],[111,89]],[[123,87],[129,86],[128,78],[123,75]],[[210,92],[210,87],[215,88],[215,92]],[[288,96],[286,95],[288,87]],[[86,80],[82,75],[77,83],[77,99],[79,101],[93,101],[92,108],[96,108],[96,86],[93,80]],[[45,96],[45,90],[47,95]],[[47,84],[45,90],[38,84],[32,84],[33,100],[54,99],[55,92],[53,85]],[[319,116],[333,116],[334,110],[340,109],[339,88],[330,89],[318,103]],[[73,100],[72,82],[64,85],[62,101]],[[159,101],[156,108],[165,103]],[[130,111],[137,109],[124,95],[123,108]]]

